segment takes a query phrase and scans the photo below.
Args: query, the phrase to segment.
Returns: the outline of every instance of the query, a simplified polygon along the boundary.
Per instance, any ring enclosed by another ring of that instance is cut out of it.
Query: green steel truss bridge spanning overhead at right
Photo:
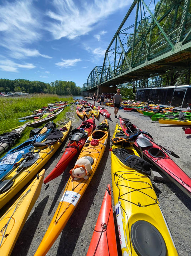
[[[119,85],[191,66],[190,0],[134,0],[87,90]],[[154,6],[154,11],[151,8]],[[134,17],[135,23],[126,27]]]

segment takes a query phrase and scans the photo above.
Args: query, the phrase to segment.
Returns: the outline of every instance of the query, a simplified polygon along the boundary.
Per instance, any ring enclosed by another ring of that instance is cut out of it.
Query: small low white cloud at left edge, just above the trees
[[[0,60],[0,69],[8,72],[19,72],[18,68],[32,69],[35,66],[32,63],[19,64],[9,59]]]

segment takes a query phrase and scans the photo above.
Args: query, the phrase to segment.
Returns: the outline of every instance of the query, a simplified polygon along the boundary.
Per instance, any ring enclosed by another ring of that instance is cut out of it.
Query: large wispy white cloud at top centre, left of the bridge
[[[49,10],[46,15],[51,19],[46,29],[54,39],[66,37],[75,39],[93,30],[101,19],[132,3],[132,0],[94,0],[89,3],[81,1],[81,8],[73,0],[53,0],[55,11]],[[96,14],[96,15],[95,15]]]

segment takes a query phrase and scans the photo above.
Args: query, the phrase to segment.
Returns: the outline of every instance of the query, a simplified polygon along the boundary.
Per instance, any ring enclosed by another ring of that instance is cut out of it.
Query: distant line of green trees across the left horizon
[[[59,81],[45,83],[41,81],[30,81],[26,79],[0,79],[0,92],[8,93],[20,92],[23,93],[44,93],[44,94],[57,94],[57,95],[80,95],[81,87],[76,86],[72,81]]]

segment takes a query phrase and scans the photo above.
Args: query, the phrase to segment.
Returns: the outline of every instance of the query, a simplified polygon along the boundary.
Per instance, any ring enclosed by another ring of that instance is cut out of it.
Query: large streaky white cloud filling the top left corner
[[[40,15],[32,0],[15,2],[5,1],[0,5],[0,46],[3,46],[12,58],[26,57],[50,58],[30,47],[41,39]]]

